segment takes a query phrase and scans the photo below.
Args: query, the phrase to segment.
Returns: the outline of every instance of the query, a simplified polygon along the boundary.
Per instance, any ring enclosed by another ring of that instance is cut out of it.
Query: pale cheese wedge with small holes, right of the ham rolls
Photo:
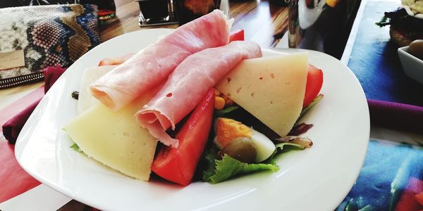
[[[280,136],[292,129],[302,110],[307,53],[243,60],[216,89]]]

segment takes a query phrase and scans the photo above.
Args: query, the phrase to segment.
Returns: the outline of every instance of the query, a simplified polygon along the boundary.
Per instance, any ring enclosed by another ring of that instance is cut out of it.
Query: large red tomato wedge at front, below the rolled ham
[[[166,146],[157,153],[152,164],[154,173],[183,186],[191,183],[212,127],[213,111],[214,89],[210,89],[176,134],[178,148]]]

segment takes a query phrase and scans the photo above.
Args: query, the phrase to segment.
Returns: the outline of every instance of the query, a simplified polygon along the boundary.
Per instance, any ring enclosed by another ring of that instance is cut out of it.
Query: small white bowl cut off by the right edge
[[[423,84],[423,60],[408,53],[408,46],[399,48],[398,56],[400,56],[405,75]]]

